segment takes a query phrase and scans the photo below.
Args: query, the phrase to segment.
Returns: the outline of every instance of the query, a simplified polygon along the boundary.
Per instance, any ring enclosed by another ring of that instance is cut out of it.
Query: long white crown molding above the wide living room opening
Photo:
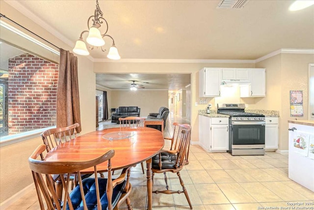
[[[94,59],[94,62],[128,62],[128,63],[255,63],[255,60],[201,60],[201,59]]]

